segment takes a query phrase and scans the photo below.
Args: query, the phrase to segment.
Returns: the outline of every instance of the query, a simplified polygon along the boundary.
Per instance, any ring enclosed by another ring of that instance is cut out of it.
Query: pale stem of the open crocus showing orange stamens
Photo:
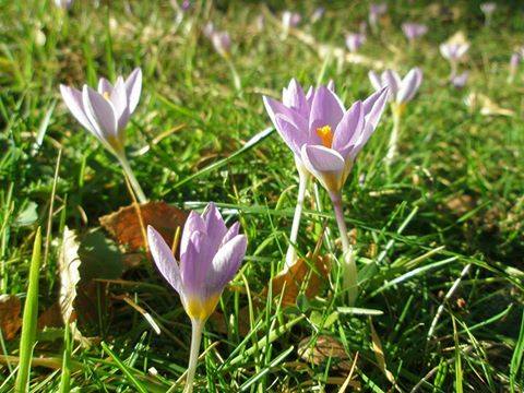
[[[344,252],[343,264],[343,286],[347,289],[349,306],[354,306],[358,296],[358,271],[355,261],[355,253],[353,246],[349,243],[347,237],[346,222],[344,221],[344,210],[342,207],[342,193],[330,192],[331,201],[333,202],[333,211],[335,213],[336,224],[341,234],[342,250]]]

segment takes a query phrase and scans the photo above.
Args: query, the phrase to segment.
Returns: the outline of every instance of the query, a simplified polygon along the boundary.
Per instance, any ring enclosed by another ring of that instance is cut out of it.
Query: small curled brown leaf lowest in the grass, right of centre
[[[311,337],[306,337],[298,344],[298,356],[307,362],[315,366],[321,365],[329,358],[335,360],[334,367],[340,370],[349,371],[352,361],[342,343],[329,335],[319,335],[311,342]]]

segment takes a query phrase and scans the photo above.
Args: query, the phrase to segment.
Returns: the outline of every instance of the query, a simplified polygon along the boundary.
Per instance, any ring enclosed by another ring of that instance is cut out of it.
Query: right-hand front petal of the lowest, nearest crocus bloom
[[[218,250],[206,276],[209,296],[222,293],[224,286],[235,276],[247,247],[246,236],[237,235]]]

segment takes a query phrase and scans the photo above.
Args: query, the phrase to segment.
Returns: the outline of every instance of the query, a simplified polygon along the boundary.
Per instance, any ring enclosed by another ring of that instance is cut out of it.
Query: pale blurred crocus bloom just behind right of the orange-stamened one
[[[415,97],[422,83],[422,71],[418,67],[412,69],[404,79],[393,70],[385,70],[380,76],[374,71],[369,71],[368,76],[374,90],[380,91],[388,86],[390,102],[401,106]]]

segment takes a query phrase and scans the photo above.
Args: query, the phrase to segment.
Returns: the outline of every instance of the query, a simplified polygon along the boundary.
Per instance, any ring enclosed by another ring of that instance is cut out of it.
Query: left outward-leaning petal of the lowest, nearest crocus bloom
[[[180,294],[182,287],[178,263],[162,235],[151,225],[147,226],[147,243],[158,271],[175,290]]]

